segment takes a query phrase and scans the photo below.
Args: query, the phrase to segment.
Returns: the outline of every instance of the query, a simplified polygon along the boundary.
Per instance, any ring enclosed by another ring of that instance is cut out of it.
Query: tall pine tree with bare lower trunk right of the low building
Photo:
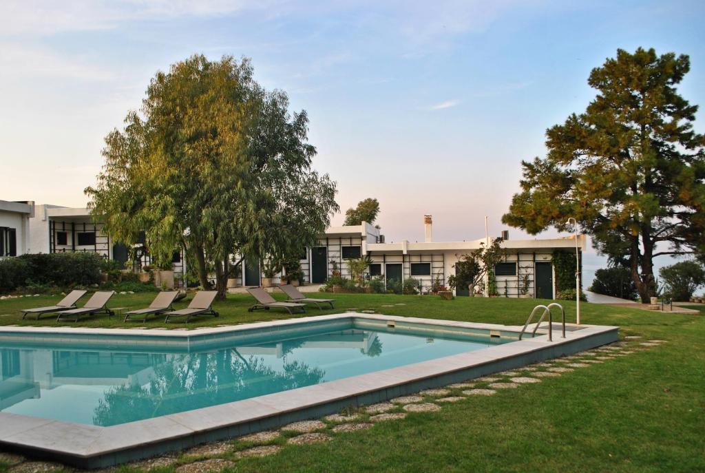
[[[536,234],[571,230],[575,217],[600,252],[628,258],[647,302],[654,257],[705,245],[705,137],[692,130],[697,106],[675,89],[689,68],[688,56],[641,48],[594,68],[597,96],[547,130],[545,159],[522,161],[521,192],[502,221]]]

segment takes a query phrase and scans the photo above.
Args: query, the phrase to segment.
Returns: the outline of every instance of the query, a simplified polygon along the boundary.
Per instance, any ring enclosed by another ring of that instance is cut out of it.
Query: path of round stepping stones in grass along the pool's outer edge
[[[515,368],[511,371],[501,371],[462,383],[449,384],[443,388],[427,389],[384,403],[331,414],[319,420],[293,422],[276,431],[261,431],[228,441],[204,443],[180,453],[133,462],[129,466],[145,472],[164,467],[176,467],[176,473],[218,472],[221,469],[233,467],[243,458],[276,455],[286,445],[305,446],[324,443],[340,434],[357,434],[358,431],[371,429],[379,422],[401,421],[410,414],[433,415],[433,412],[440,411],[444,405],[494,395],[499,391],[515,391],[525,384],[541,383],[544,379],[559,377],[594,364],[618,360],[620,357],[650,350],[664,343],[666,340],[646,340],[641,337],[627,336],[623,341],[612,345]],[[34,461],[13,453],[0,452],[0,463],[7,465],[8,473],[72,471],[59,463]],[[111,467],[92,471],[115,473],[117,469],[118,467]]]

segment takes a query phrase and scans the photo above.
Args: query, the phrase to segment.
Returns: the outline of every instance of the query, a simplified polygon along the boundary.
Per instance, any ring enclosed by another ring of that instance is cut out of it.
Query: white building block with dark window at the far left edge
[[[0,258],[30,252],[30,217],[34,202],[0,200]]]

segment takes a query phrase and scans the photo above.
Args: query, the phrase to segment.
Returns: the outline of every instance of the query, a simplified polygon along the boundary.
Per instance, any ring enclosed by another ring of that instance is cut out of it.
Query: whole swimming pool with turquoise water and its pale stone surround
[[[0,450],[81,468],[275,429],[618,340],[618,327],[331,314],[178,330],[0,326]]]

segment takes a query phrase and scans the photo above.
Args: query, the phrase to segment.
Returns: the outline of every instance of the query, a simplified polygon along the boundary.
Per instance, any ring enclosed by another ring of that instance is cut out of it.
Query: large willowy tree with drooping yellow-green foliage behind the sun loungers
[[[119,242],[145,231],[157,261],[175,247],[224,297],[230,257],[300,252],[329,226],[336,185],[311,170],[305,111],[252,78],[248,59],[192,56],[152,79],[141,113],[106,137],[105,165],[87,188],[94,218]]]

